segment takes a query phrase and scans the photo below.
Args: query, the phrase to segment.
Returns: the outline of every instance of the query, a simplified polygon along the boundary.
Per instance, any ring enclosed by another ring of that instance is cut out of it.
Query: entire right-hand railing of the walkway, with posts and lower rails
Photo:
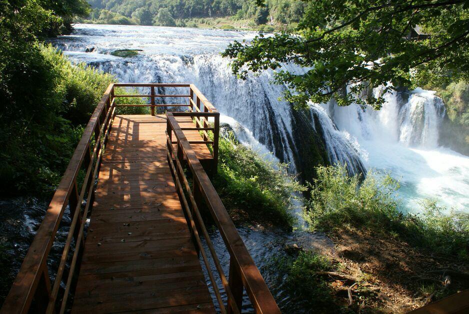
[[[166,128],[166,150],[167,159],[170,164],[177,192],[188,224],[195,240],[202,260],[206,266],[208,276],[212,283],[214,294],[222,313],[238,313],[241,309],[243,288],[246,289],[249,299],[258,313],[279,313],[280,310],[275,303],[267,285],[265,284],[259,270],[255,266],[252,257],[244,246],[231,218],[229,217],[220,197],[210,182],[208,175],[197,159],[194,150],[186,139],[183,129],[179,126],[176,117],[191,116],[201,118],[209,116],[208,112],[168,112]],[[215,116],[215,128],[218,121],[218,113]],[[174,139],[173,139],[174,135]],[[173,142],[177,143],[174,151]],[[184,172],[184,166],[190,170],[191,184]],[[216,227],[218,228],[223,242],[230,256],[229,275],[223,272],[221,263],[216,255],[210,236],[204,225],[200,208],[206,206],[210,212]],[[211,271],[208,255],[200,239],[200,234],[205,239],[207,249],[215,264],[216,271],[221,280],[222,288],[226,292],[226,308],[223,304],[220,288]]]

